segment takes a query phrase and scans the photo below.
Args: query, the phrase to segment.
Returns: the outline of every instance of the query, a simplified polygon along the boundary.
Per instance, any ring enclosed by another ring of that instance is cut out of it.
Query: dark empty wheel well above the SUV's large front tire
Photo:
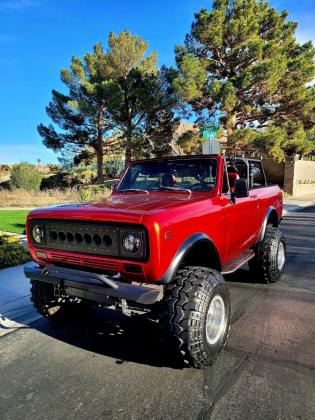
[[[200,240],[185,254],[181,264],[184,266],[208,267],[221,271],[221,261],[215,246],[208,240]]]

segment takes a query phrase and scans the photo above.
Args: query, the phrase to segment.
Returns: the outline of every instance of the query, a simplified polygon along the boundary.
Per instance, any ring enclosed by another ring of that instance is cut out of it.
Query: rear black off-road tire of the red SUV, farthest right
[[[264,240],[256,245],[254,251],[255,257],[248,264],[255,280],[261,283],[280,280],[286,261],[286,243],[281,229],[268,225]],[[284,261],[279,265],[280,253],[284,253]]]

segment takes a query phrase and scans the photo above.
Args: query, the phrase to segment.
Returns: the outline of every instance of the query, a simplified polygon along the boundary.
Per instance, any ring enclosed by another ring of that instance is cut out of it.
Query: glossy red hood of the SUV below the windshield
[[[202,199],[210,193],[114,194],[102,201],[61,204],[33,210],[30,217],[59,219],[112,220],[141,223],[142,216],[153,215],[174,207],[181,207]]]

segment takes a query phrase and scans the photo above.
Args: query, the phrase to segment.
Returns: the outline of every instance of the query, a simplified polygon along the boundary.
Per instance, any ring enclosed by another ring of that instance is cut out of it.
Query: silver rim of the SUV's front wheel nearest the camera
[[[224,335],[227,326],[225,304],[221,296],[212,299],[206,321],[206,338],[209,344],[216,344]]]

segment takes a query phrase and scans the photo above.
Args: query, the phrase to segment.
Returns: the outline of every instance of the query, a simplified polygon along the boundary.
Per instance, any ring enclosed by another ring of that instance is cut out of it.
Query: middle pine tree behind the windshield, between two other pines
[[[126,165],[141,150],[145,156],[167,153],[179,123],[174,112],[178,105],[174,71],[158,70],[157,54],[146,57],[148,44],[128,31],[110,34],[108,43],[112,79],[107,109],[125,142]]]

